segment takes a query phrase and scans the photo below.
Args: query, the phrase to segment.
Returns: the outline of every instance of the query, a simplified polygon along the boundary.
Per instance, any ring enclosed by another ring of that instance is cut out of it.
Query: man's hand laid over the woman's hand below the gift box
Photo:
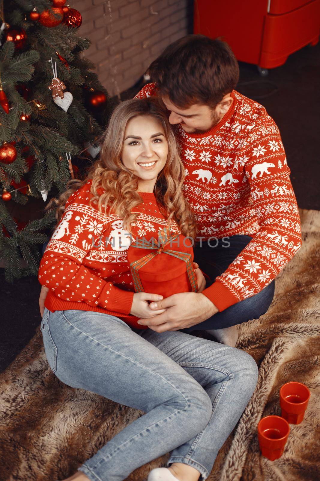
[[[162,301],[152,302],[149,307],[166,309],[163,314],[138,321],[156,332],[190,328],[218,312],[216,306],[199,292],[173,294]]]

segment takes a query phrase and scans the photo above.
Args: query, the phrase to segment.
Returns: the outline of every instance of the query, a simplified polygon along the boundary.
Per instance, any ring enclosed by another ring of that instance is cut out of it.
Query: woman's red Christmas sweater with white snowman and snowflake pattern
[[[159,230],[168,225],[173,233],[181,231],[175,221],[168,224],[153,193],[140,192],[142,203],[132,210],[139,216],[131,224],[130,236],[119,216],[90,205],[91,186],[89,180],[69,197],[41,259],[38,279],[49,288],[45,306],[53,312],[94,310],[147,329],[130,315],[134,288],[127,260],[129,246],[137,237],[157,239]]]

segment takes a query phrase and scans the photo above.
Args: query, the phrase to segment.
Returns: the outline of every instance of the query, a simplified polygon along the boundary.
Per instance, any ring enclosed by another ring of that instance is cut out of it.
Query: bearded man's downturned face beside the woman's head
[[[172,103],[167,95],[161,95],[161,100],[171,111],[170,124],[181,124],[183,130],[189,134],[203,134],[220,121],[216,109],[212,109],[208,105],[195,103],[188,109],[181,109]]]

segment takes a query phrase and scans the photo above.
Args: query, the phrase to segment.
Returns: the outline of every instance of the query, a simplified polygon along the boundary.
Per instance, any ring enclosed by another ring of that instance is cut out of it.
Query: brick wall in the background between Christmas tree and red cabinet
[[[192,33],[192,0],[74,0],[79,29],[91,39],[84,55],[111,96],[132,87],[174,40]]]

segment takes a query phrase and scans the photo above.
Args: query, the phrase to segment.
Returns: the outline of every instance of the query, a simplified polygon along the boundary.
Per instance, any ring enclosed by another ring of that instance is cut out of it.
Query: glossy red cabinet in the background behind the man
[[[320,0],[195,0],[194,33],[222,37],[239,61],[277,67],[319,41]]]

